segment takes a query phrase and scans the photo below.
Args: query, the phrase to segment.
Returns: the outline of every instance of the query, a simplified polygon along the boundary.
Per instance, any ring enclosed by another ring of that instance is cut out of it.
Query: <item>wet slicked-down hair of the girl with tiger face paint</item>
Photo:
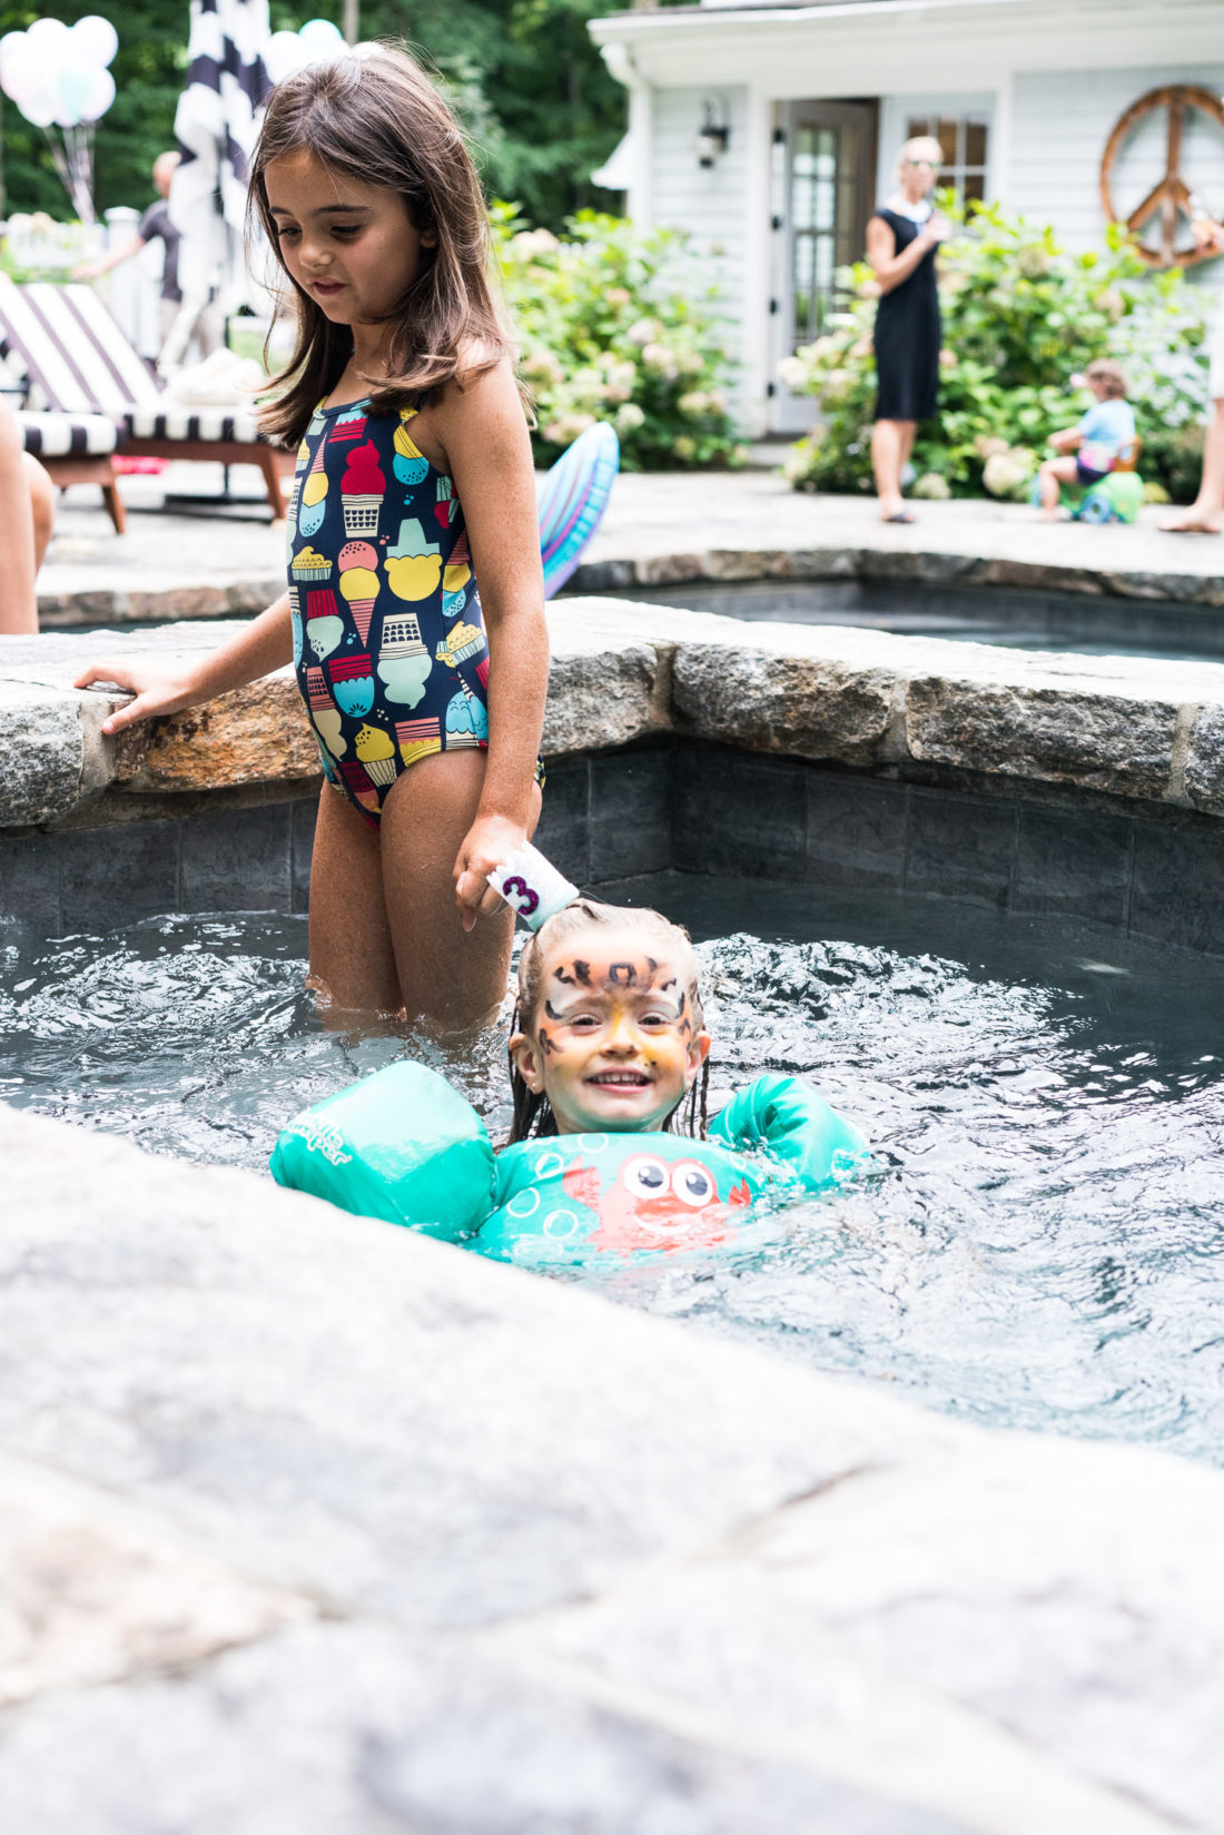
[[[646,906],[633,905],[604,905],[600,899],[574,899],[549,918],[547,923],[536,930],[534,936],[523,943],[523,952],[519,956],[519,993],[514,1004],[514,1022],[512,1033],[534,1031],[536,1015],[543,1002],[543,958],[545,951],[552,949],[556,943],[563,943],[569,936],[578,936],[584,930],[640,930],[642,936],[657,938],[668,949],[673,949],[681,963],[684,965],[684,993],[688,996],[688,1011],[692,1017],[694,1033],[705,1031],[705,1009],[701,1006],[701,987],[697,985],[697,958],[694,954],[692,938],[683,925],[672,923],[662,912],[648,910]],[[707,1057],[701,1072],[694,1077],[692,1088],[684,1092],[672,1114],[664,1119],[662,1129],[666,1134],[688,1134],[692,1140],[705,1140],[707,1130],[707,1097],[710,1088],[710,1061]],[[525,1141],[532,1136],[556,1134],[556,1116],[543,1090],[529,1090],[523,1072],[514,1062],[514,1053],[510,1053],[510,1092],[514,1095],[514,1121],[510,1125],[510,1140]]]

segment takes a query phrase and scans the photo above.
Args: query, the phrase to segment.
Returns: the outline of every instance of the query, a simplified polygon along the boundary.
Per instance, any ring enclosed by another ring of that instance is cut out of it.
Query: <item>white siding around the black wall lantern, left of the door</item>
[[[710,279],[718,281],[718,310],[729,319],[727,349],[741,358],[736,327],[749,312],[747,251],[749,251],[749,92],[747,88],[719,88],[716,101],[725,105],[730,121],[727,152],[712,167],[697,165],[694,139],[708,88],[657,90],[653,95],[651,141],[651,222],[659,228],[686,229],[692,251],[708,264]],[[760,284],[765,284],[763,281]],[[736,402],[745,385],[736,378]]]

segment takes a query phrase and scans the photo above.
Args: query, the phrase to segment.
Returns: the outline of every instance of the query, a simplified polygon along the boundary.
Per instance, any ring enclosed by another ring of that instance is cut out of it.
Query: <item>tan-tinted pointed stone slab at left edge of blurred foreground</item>
[[[0,1708],[195,1663],[316,1611],[116,1497],[4,1453],[0,1596]]]

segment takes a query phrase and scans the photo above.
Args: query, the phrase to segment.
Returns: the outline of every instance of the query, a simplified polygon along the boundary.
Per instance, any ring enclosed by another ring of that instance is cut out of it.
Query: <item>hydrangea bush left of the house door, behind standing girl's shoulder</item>
[[[558,240],[494,206],[494,235],[536,396],[536,461],[611,420],[626,472],[738,464],[718,281],[684,237],[582,211]]]

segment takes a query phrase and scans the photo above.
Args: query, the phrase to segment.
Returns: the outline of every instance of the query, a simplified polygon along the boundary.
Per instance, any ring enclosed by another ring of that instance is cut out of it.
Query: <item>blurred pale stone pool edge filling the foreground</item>
[[[6,1108],[0,1180],[6,1828],[1224,1828],[1224,1474]]]

